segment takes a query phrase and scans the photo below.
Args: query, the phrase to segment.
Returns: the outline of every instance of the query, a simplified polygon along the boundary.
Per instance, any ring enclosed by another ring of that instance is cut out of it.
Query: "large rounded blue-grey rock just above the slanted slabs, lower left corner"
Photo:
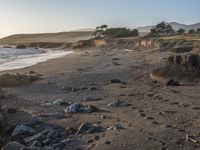
[[[12,138],[17,138],[21,135],[33,135],[35,133],[35,130],[33,130],[30,127],[27,127],[25,125],[18,125],[12,132]]]

